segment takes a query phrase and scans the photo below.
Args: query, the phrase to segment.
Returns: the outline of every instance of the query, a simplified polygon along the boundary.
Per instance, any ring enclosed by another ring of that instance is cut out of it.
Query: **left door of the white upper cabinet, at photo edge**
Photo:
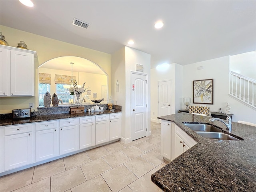
[[[0,49],[0,95],[8,96],[8,61],[7,50]],[[10,86],[10,85],[9,85]]]

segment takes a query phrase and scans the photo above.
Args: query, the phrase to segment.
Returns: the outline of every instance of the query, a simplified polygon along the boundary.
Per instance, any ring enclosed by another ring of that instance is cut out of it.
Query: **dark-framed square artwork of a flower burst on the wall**
[[[213,104],[213,79],[193,81],[193,103]]]

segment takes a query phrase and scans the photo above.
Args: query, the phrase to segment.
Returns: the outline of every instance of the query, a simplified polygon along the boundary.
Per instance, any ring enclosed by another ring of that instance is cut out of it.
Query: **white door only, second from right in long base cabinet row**
[[[95,144],[101,144],[109,141],[108,120],[96,122]]]

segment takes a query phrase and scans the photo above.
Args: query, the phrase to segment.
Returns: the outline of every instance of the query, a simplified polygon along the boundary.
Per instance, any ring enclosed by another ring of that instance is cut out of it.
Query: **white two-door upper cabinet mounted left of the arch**
[[[34,96],[36,52],[0,46],[0,96]]]

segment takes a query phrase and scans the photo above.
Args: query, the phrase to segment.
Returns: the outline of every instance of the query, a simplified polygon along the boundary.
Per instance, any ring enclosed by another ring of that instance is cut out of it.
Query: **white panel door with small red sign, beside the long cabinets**
[[[146,136],[147,127],[147,75],[131,75],[132,140]]]

